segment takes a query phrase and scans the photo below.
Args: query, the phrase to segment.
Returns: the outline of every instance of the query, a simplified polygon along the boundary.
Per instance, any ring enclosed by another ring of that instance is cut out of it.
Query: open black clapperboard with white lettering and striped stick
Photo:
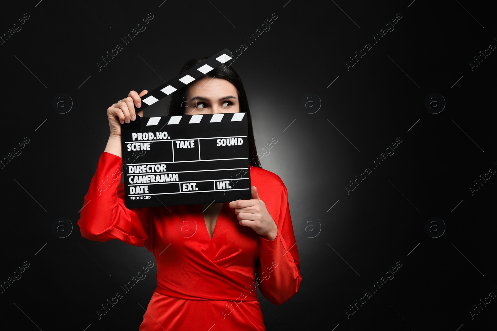
[[[140,110],[231,58],[221,51],[167,81],[142,96]],[[126,207],[251,198],[247,113],[137,115],[121,128]]]

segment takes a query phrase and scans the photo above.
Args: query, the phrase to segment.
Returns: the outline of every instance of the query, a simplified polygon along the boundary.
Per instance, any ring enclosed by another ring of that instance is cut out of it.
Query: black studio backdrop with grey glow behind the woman
[[[281,306],[259,293],[267,329],[495,326],[495,300],[470,315],[497,293],[497,179],[473,195],[469,188],[497,169],[497,55],[470,65],[497,45],[492,8],[467,0],[35,0],[2,8],[1,34],[25,12],[29,19],[0,46],[0,157],[26,136],[29,143],[1,169],[0,282],[30,265],[0,294],[1,324],[138,329],[155,267],[100,320],[95,311],[154,256],[86,240],[76,224],[108,138],[106,109],[130,90],[175,77],[191,58],[245,44],[233,67],[248,93],[257,149],[278,139],[261,163],[288,189],[302,274],[298,293]],[[148,13],[146,30],[99,71],[100,57]],[[273,13],[270,30],[250,44],[245,38]],[[347,70],[349,57],[397,13],[395,30]],[[65,114],[52,107],[59,93],[74,103]],[[431,93],[445,99],[438,114],[424,106]],[[154,106],[146,116],[166,115],[166,99]],[[397,137],[395,154],[347,195],[349,181]],[[58,217],[74,227],[66,238],[52,229]],[[445,224],[438,238],[425,231],[431,217]],[[349,305],[398,261],[395,278],[347,319]]]

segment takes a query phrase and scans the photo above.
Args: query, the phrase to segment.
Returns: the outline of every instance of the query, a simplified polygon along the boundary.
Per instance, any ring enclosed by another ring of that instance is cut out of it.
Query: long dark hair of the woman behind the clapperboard
[[[183,65],[179,74],[185,72],[188,69],[204,62],[209,59],[209,57],[202,57],[191,59],[187,63]],[[250,166],[262,168],[260,165],[259,158],[257,156],[257,148],[255,147],[255,140],[253,138],[253,129],[252,129],[252,117],[250,116],[250,109],[248,107],[248,99],[247,94],[245,93],[245,88],[242,83],[242,79],[231,66],[218,66],[211,71],[205,73],[200,76],[198,79],[202,79],[205,77],[209,78],[222,78],[228,80],[230,83],[235,85],[238,92],[238,100],[240,105],[240,112],[247,112],[247,121],[248,121],[248,151],[250,155]],[[182,106],[184,97],[186,96],[186,90],[188,85],[181,87],[178,91],[172,94],[171,100],[169,102],[169,111],[168,116],[182,116],[185,114],[185,109]]]

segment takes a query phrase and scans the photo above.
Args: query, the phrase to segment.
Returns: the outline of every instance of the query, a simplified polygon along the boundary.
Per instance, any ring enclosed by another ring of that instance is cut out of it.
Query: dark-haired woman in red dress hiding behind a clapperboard
[[[205,59],[187,62],[181,73]],[[154,253],[157,288],[140,330],[265,330],[255,287],[280,305],[297,292],[302,278],[287,189],[260,167],[238,73],[228,66],[206,73],[172,96],[169,115],[247,112],[249,200],[126,208],[124,183],[119,184],[119,123],[136,119],[135,107],[146,93],[131,91],[107,109],[110,136],[84,197],[82,236],[118,239]]]

